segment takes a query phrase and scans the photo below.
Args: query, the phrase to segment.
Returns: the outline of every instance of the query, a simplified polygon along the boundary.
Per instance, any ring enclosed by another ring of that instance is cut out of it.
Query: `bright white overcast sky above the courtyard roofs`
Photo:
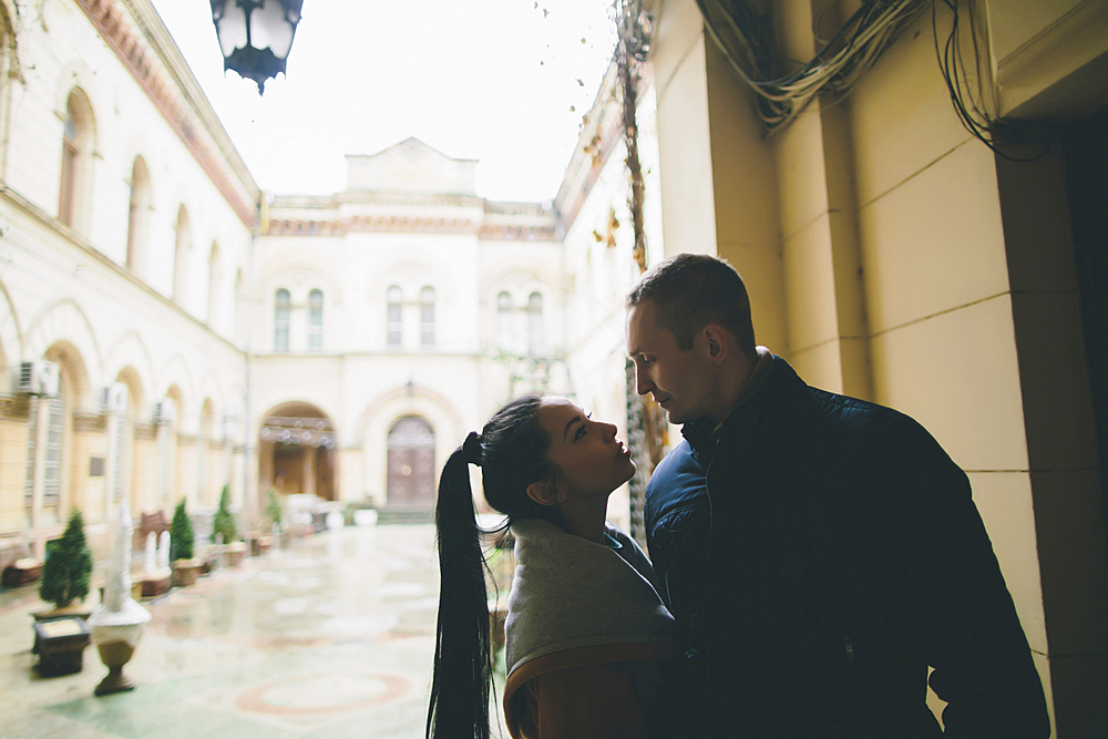
[[[152,0],[258,185],[329,194],[345,154],[416,136],[478,193],[548,201],[614,43],[607,0],[304,0],[288,76],[223,71],[207,0]]]

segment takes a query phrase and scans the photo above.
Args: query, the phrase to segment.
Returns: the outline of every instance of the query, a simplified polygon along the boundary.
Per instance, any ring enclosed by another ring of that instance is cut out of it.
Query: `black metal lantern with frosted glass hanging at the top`
[[[223,69],[235,70],[265,92],[266,80],[285,71],[304,0],[212,0],[212,22]]]

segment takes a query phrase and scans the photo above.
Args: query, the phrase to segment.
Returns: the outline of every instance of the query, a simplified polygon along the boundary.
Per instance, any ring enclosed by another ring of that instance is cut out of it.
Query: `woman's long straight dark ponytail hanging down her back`
[[[481,438],[471,433],[439,478],[439,618],[428,739],[489,739],[489,602],[469,470],[481,455]]]

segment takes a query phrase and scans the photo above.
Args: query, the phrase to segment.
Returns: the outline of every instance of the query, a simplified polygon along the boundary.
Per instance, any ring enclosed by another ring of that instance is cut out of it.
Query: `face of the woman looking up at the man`
[[[566,495],[607,496],[635,474],[616,427],[594,421],[565,398],[542,400],[538,425],[550,437],[550,459]]]

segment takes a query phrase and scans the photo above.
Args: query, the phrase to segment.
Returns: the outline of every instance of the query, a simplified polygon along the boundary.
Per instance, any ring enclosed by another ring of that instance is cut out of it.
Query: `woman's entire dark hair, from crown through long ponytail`
[[[527,485],[553,476],[550,439],[537,422],[541,396],[496,411],[481,435],[471,433],[439,478],[439,619],[427,711],[428,739],[489,739],[492,655],[485,561],[470,489],[469,465],[482,468],[485,500],[509,522],[557,512],[527,496]],[[556,521],[556,523],[562,523]]]

